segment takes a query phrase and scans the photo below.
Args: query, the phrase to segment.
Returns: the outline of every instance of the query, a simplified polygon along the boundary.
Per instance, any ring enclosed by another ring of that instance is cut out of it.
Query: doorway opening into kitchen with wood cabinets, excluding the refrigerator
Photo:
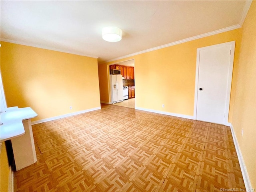
[[[123,87],[123,100],[112,101],[111,103],[117,106],[123,106],[128,108],[135,108],[135,75],[134,75],[134,59],[123,62],[114,63],[109,66],[109,74],[113,74],[114,71],[119,70],[122,76]],[[121,86],[120,86],[121,87]],[[110,84],[110,94],[112,86]]]

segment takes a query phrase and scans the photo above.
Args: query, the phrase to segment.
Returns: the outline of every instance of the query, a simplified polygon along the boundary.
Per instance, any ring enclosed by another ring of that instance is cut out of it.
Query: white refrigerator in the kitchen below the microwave
[[[122,75],[110,75],[110,90],[112,103],[124,100]]]

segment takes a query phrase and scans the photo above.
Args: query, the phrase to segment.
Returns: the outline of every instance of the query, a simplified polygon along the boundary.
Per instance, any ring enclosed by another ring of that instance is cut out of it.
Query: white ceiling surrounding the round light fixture
[[[246,1],[1,1],[1,40],[113,60],[230,26]],[[120,42],[102,39],[116,26]]]

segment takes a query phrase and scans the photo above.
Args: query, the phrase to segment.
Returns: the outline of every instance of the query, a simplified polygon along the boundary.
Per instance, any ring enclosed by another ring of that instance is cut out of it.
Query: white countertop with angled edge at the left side
[[[36,117],[37,114],[30,107],[9,107],[0,113],[0,142],[21,136],[25,133],[22,120]]]

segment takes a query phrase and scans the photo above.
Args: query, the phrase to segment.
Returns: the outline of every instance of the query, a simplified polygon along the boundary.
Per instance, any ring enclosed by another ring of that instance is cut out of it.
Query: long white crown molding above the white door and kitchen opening
[[[216,30],[216,31],[204,33],[204,34],[201,34],[201,35],[193,36],[193,37],[190,37],[190,38],[178,40],[178,41],[175,41],[175,42],[172,42],[172,43],[168,43],[168,44],[161,45],[161,46],[158,46],[158,47],[146,49],[146,50],[139,51],[139,52],[136,52],[136,53],[132,53],[132,54],[129,54],[129,55],[125,55],[125,56],[122,56],[122,57],[110,59],[110,60],[107,60],[106,62],[102,62],[102,63],[99,63],[99,64],[104,64],[104,63],[108,63],[108,62],[124,59],[124,58],[127,58],[127,57],[132,57],[132,56],[135,56],[135,55],[138,55],[138,54],[142,54],[142,53],[146,53],[146,52],[150,52],[150,51],[154,51],[154,50],[158,50],[158,49],[174,46],[174,45],[177,45],[177,44],[181,44],[181,43],[185,43],[185,42],[188,42],[188,41],[200,39],[200,38],[203,38],[203,37],[208,37],[208,36],[211,36],[211,35],[227,32],[227,31],[231,31],[231,30],[238,29],[238,28],[241,28],[240,24],[236,24],[236,25],[233,25],[233,26],[230,26],[230,27],[226,27],[226,28],[222,28],[222,29],[219,29],[219,30]]]

